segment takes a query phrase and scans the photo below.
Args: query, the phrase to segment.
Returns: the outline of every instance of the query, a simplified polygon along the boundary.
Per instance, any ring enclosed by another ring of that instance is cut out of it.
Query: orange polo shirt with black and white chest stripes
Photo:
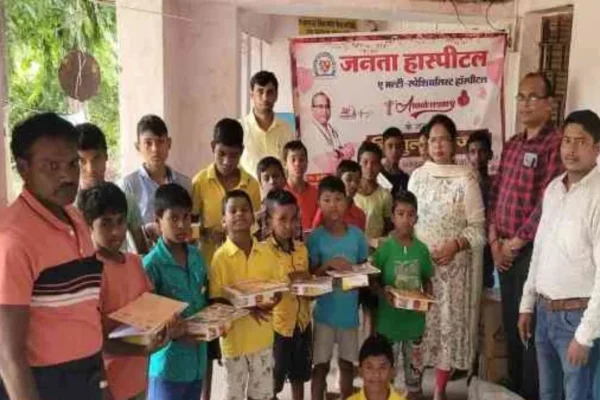
[[[29,306],[27,357],[51,366],[101,350],[102,263],[73,206],[59,220],[30,192],[0,213],[0,305]]]

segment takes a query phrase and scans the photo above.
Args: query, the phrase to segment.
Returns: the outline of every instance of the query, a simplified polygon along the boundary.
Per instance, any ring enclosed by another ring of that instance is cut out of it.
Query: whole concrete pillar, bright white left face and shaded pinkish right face
[[[237,7],[194,0],[118,0],[117,9],[122,171],[140,165],[133,156],[136,123],[142,115],[156,113],[173,138],[169,164],[193,176],[212,159],[214,124],[237,117]]]

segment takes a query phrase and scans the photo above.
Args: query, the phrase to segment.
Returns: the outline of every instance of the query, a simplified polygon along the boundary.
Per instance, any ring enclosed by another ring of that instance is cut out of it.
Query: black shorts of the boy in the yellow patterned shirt
[[[312,369],[312,327],[303,331],[296,327],[292,337],[275,332],[273,345],[275,359],[275,394],[283,390],[286,379],[291,382],[308,382]]]

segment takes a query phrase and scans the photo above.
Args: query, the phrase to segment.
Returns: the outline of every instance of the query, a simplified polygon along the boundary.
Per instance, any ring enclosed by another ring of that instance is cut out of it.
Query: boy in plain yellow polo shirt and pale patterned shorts
[[[209,294],[224,300],[226,286],[249,280],[280,280],[281,269],[266,244],[252,237],[254,211],[250,196],[232,190],[223,199],[227,240],[217,249],[209,271]],[[272,308],[272,306],[271,306]],[[227,399],[273,397],[273,323],[271,309],[254,307],[233,323],[221,340],[227,372]],[[246,389],[247,388],[247,389]]]

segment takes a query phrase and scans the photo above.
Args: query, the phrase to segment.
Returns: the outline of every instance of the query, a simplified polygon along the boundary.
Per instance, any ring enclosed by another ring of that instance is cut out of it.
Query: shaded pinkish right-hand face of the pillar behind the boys
[[[167,0],[164,19],[165,117],[171,164],[192,176],[212,160],[212,128],[237,118],[239,29],[235,5]]]

